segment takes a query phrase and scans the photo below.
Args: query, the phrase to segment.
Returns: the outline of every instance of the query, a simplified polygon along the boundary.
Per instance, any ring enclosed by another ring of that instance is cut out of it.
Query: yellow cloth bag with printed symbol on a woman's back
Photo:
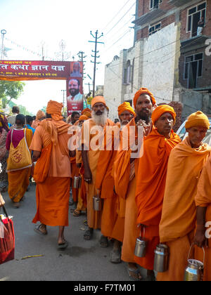
[[[24,138],[20,140],[18,147],[13,146],[13,131],[11,133],[11,147],[6,172],[18,171],[32,166],[32,158],[25,133],[26,129],[24,129]]]

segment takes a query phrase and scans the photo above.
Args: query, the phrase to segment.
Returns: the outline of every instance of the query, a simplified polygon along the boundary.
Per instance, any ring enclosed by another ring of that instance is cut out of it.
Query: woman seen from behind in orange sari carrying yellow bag
[[[15,127],[8,132],[6,149],[9,150],[8,172],[8,195],[15,208],[20,207],[28,185],[30,184],[30,172],[32,158],[29,150],[32,142],[32,130],[24,129],[25,117],[18,114]]]

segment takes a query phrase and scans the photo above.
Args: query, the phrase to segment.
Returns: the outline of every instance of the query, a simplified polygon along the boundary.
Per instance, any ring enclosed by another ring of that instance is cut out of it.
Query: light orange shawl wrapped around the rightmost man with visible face
[[[211,152],[206,143],[192,148],[188,138],[172,150],[167,168],[167,181],[160,221],[160,242],[184,237],[196,225],[198,178]]]

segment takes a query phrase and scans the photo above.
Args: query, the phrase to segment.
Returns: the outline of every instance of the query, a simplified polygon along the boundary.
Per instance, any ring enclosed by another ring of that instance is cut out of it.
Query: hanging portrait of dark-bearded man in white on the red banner
[[[84,97],[82,91],[82,78],[72,78],[67,81],[67,98],[68,115],[72,112],[82,112],[84,106]]]

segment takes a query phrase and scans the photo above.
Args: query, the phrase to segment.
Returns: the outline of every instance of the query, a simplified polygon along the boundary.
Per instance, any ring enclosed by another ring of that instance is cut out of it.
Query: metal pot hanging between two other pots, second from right
[[[158,273],[165,273],[169,267],[169,247],[159,244],[155,249],[154,270]]]

